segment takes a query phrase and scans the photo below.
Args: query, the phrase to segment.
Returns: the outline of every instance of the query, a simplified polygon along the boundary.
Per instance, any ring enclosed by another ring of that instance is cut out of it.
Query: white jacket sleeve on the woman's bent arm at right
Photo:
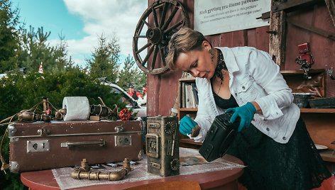
[[[260,114],[260,117],[269,120],[279,118],[283,115],[281,109],[292,104],[292,90],[267,52],[252,49],[248,59],[249,74],[267,94],[255,100],[262,109],[263,116]]]

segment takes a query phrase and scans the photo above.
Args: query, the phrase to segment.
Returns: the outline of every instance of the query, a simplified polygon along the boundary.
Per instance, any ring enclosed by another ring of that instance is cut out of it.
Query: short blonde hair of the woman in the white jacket
[[[168,45],[169,52],[165,58],[167,66],[172,70],[177,69],[175,62],[180,53],[189,52],[191,50],[202,50],[202,42],[204,40],[208,42],[202,33],[192,30],[191,28],[181,28],[178,30],[177,33],[172,35]]]

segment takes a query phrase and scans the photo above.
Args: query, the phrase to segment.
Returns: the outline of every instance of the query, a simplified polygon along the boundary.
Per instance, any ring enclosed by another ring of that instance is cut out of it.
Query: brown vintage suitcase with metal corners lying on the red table
[[[11,172],[141,160],[140,121],[52,121],[8,126]]]

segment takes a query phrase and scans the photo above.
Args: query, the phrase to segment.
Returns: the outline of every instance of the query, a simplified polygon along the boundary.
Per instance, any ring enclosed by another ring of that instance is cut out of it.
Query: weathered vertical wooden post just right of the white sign
[[[278,0],[272,0],[271,6],[280,4]],[[285,44],[286,44],[286,13],[285,11],[271,12],[270,17],[270,43],[269,54],[273,61],[280,65],[285,61]]]

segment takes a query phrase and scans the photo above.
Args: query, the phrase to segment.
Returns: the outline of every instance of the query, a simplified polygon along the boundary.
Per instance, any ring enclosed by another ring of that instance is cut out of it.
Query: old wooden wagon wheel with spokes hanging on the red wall
[[[167,16],[167,12],[170,15]],[[172,18],[175,16],[181,18],[170,26]],[[153,19],[153,23],[148,23],[149,17]],[[143,31],[143,26],[147,26],[148,30]],[[163,74],[169,71],[169,68],[165,64],[165,57],[168,52],[167,44],[172,34],[184,26],[189,27],[190,21],[179,1],[158,0],[148,7],[141,16],[140,21],[138,21],[133,36],[133,57],[138,67],[148,74]],[[143,40],[143,44],[146,44],[138,48],[140,39]],[[143,56],[144,59],[142,60],[140,53],[145,53],[144,50],[147,50],[147,53]],[[149,59],[151,60],[150,67],[148,66]]]

